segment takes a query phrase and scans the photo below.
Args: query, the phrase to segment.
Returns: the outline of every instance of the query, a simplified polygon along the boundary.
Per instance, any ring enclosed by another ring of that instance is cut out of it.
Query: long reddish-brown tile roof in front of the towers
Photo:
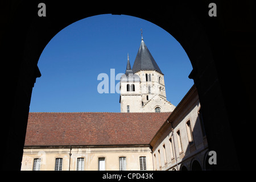
[[[149,144],[171,113],[29,113],[25,146]]]

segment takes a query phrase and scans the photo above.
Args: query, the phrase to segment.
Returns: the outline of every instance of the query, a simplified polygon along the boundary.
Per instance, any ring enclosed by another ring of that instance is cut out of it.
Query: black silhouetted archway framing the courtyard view
[[[237,126],[250,126],[251,113],[256,110],[251,84],[255,77],[254,1],[216,1],[217,17],[208,16],[208,1],[172,1],[168,6],[160,2],[129,2],[125,6],[101,2],[99,6],[95,1],[47,1],[46,17],[38,16],[39,3],[6,0],[0,6],[0,55],[5,71],[0,132],[1,156],[5,158],[1,169],[20,170],[31,93],[36,77],[41,76],[37,63],[44,47],[69,24],[100,14],[136,16],[174,36],[191,60],[189,78],[199,92],[209,150],[217,153],[218,164],[213,168],[247,168],[248,160],[243,160],[246,151],[240,144],[250,146],[253,129],[240,128],[247,132],[243,135],[246,139],[234,137]]]

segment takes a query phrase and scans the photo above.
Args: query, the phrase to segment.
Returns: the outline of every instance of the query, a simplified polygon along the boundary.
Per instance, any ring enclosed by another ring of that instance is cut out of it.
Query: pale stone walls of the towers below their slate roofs
[[[122,76],[120,82],[121,113],[127,113],[127,106],[129,106],[130,113],[155,112],[156,107],[159,107],[161,112],[170,112],[175,109],[175,106],[166,100],[162,74],[156,71],[139,71],[134,75],[139,77],[136,81],[132,77]],[[134,85],[135,90],[127,90],[127,85]]]

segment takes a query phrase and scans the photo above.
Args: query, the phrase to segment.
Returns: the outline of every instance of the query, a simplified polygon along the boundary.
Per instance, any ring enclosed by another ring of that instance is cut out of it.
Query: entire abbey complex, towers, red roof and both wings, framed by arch
[[[176,107],[167,101],[143,39],[120,82],[120,113],[29,113],[21,170],[210,169],[195,85]]]

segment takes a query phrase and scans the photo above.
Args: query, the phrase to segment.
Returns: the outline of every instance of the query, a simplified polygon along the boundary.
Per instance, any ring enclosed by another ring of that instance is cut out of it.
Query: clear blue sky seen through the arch
[[[97,15],[61,30],[47,44],[32,90],[30,112],[120,112],[119,93],[110,93],[110,69],[125,73],[144,42],[164,73],[167,100],[179,104],[193,85],[187,54],[168,32],[127,15]],[[98,93],[100,73],[109,76],[109,93]],[[112,78],[113,79],[113,78]],[[115,81],[115,85],[118,84]]]

